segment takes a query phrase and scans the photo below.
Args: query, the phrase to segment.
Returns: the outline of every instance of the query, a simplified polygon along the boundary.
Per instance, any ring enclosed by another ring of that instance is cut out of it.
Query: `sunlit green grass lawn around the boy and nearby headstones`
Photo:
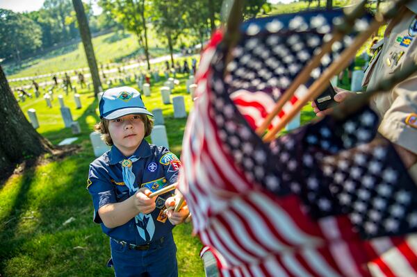
[[[186,93],[186,76],[177,74],[177,78],[181,84],[172,94],[185,97],[189,112],[192,100]],[[174,119],[172,105],[163,105],[159,87],[164,81],[161,78],[154,83],[152,96],[144,101],[149,110],[163,109],[170,149],[179,155],[186,119]],[[88,136],[99,119],[97,100],[92,92],[79,93],[83,105],[80,110],[76,110],[71,92],[63,95],[72,117],[81,125],[80,135],[72,135],[69,128],[64,128],[58,93],[54,95],[53,108],[47,108],[42,97],[20,103],[25,115],[29,108],[37,111],[40,134],[54,144],[66,137],[79,137],[75,143],[81,145],[81,151],[26,170],[0,186],[2,276],[113,276],[113,269],[105,267],[110,257],[108,237],[92,222],[92,203],[85,190],[88,165],[95,159]],[[74,221],[64,225],[71,218]],[[174,237],[180,276],[204,276],[198,255],[201,244],[191,236],[191,224],[174,228]]]

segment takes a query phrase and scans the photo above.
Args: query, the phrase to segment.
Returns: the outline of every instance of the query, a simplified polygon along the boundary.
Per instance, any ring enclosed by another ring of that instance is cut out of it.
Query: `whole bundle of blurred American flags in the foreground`
[[[254,133],[340,16],[252,20],[228,65],[221,33],[202,56],[179,190],[222,276],[417,274],[417,187],[391,143],[374,140],[378,119],[370,108],[344,121],[326,117],[270,144]]]

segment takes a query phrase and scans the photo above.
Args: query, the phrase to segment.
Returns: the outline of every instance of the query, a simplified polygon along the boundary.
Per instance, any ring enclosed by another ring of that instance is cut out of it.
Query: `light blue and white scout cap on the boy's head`
[[[100,118],[116,119],[124,115],[142,113],[153,117],[133,87],[113,87],[106,90],[99,103]]]

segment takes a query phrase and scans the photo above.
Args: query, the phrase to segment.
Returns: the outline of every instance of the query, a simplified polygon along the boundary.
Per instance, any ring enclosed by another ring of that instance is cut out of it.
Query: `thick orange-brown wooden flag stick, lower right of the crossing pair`
[[[288,114],[284,115],[282,117],[281,121],[275,126],[275,128],[272,128],[271,131],[269,131],[264,137],[264,142],[270,142],[275,138],[275,135],[281,131],[286,124],[288,124],[295,115],[297,115],[298,112],[302,109],[302,107],[311,99],[316,98],[320,93],[322,93],[323,90],[327,87],[327,82],[332,76],[338,74],[341,72],[343,68],[345,68],[352,57],[354,57],[357,50],[362,46],[366,40],[368,40],[368,37],[372,35],[375,31],[378,30],[379,26],[381,26],[385,22],[384,19],[375,19],[370,24],[369,28],[366,31],[363,31],[355,40],[352,42],[352,45],[350,45],[349,48],[345,49],[341,56],[336,60],[336,62],[332,63],[332,65],[318,78],[313,85],[309,87],[309,91],[302,97],[302,99],[298,100],[295,105],[293,106],[293,109],[288,112]]]

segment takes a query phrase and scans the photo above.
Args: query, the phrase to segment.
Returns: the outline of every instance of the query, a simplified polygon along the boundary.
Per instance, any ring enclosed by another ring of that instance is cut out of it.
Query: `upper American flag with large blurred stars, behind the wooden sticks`
[[[291,81],[320,51],[320,46],[332,37],[334,22],[341,22],[343,12],[300,12],[291,15],[263,17],[245,22],[242,39],[231,51],[224,81],[238,110],[252,128],[259,127],[274,103],[289,87]],[[320,60],[311,71],[311,81],[319,78],[324,69],[352,42],[352,35],[368,26],[368,15],[354,23],[352,33],[332,46],[332,52]],[[275,126],[293,104],[306,92],[302,85],[270,124]]]

